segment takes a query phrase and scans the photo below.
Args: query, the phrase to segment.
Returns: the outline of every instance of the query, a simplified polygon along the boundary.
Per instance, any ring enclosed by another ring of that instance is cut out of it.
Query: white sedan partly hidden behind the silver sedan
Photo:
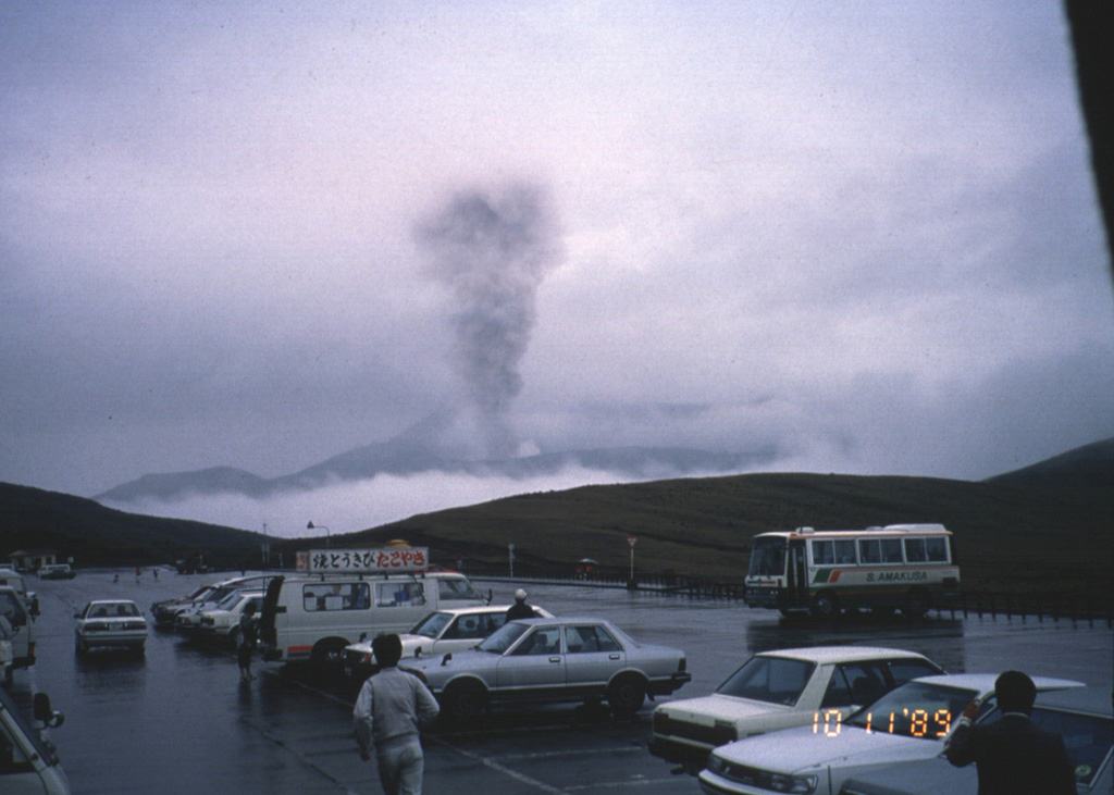
[[[431,612],[409,632],[399,636],[402,656],[429,657],[470,649],[504,625],[508,609],[510,605],[486,605]],[[532,610],[537,618],[553,617],[544,608],[534,607]],[[370,640],[361,640],[344,649],[344,671],[349,676],[363,679],[374,668],[375,655]]]

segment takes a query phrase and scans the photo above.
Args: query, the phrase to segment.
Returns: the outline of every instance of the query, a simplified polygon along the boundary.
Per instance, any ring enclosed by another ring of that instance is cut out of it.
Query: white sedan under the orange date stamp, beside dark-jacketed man
[[[700,774],[710,795],[805,793],[832,795],[866,771],[938,756],[973,698],[995,704],[995,674],[927,676],[891,690],[843,720],[818,710],[811,725],[773,732],[716,748]],[[1034,677],[1038,691],[1083,687]]]

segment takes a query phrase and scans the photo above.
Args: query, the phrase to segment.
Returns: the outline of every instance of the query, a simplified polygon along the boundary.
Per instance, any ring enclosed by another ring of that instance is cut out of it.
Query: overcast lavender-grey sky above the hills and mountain
[[[961,479],[1114,435],[1051,0],[2,3],[0,202],[2,481],[274,477],[447,406]]]

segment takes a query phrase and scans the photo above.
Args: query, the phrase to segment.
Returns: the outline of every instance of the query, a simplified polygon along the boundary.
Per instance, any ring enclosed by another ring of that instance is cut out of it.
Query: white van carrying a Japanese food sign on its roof
[[[344,648],[380,632],[405,632],[438,609],[483,605],[456,571],[306,573],[276,577],[260,617],[265,660],[340,667]]]

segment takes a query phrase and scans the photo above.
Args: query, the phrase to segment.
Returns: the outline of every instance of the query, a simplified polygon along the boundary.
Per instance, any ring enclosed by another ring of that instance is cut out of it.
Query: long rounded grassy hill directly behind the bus
[[[522,494],[421,514],[334,546],[402,538],[431,557],[568,570],[582,557],[624,571],[627,536],[641,572],[740,581],[751,538],[801,526],[853,529],[941,522],[955,532],[964,579],[993,590],[1105,593],[1114,573],[1114,501],[1107,489],[973,483],[930,478],[746,474]]]

